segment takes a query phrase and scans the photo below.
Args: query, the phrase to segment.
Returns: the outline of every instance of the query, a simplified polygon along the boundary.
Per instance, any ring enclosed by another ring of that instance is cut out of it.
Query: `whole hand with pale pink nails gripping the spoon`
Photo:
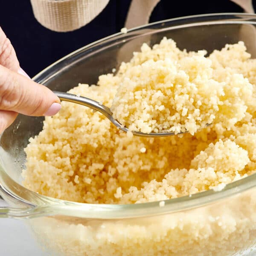
[[[15,50],[0,27],[0,133],[14,122],[18,113],[53,116],[60,109],[60,99],[20,68]]]

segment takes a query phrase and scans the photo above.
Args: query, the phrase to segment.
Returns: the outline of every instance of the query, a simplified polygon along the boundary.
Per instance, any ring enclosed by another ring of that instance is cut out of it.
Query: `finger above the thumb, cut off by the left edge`
[[[17,72],[20,64],[10,40],[0,27],[0,65]]]

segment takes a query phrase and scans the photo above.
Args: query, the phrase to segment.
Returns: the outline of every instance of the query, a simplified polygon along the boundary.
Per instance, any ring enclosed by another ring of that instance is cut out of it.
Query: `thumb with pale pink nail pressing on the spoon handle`
[[[47,87],[0,65],[0,110],[53,116],[60,109],[60,99]]]

